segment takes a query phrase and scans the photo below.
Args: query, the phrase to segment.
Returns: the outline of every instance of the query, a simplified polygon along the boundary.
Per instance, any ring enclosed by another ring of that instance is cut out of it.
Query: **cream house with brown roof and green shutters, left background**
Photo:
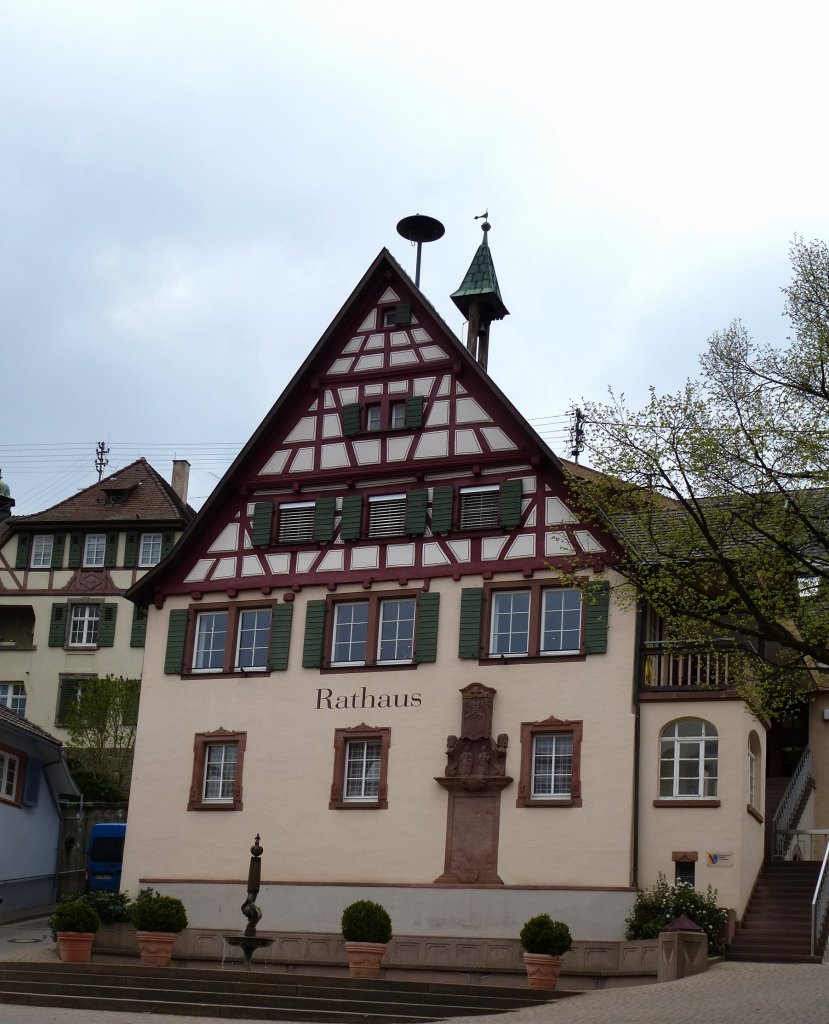
[[[188,471],[174,463],[176,490],[139,459],[0,522],[0,706],[66,739],[82,679],[140,677],[146,618],[124,594],[192,519]]]

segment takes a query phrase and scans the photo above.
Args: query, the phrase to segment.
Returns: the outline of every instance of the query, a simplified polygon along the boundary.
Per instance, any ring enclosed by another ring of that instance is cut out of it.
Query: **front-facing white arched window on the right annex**
[[[701,718],[666,725],[659,738],[661,800],[716,797],[716,729]]]

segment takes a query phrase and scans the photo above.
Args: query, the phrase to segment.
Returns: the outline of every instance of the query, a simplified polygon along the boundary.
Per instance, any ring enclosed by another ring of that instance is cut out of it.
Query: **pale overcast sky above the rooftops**
[[[489,242],[530,419],[782,340],[829,239],[829,5],[0,0],[0,469],[15,514],[144,455],[204,499],[384,246]],[[539,422],[566,454],[564,420]]]

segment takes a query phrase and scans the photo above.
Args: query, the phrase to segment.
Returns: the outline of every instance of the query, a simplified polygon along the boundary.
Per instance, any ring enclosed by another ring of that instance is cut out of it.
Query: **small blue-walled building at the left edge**
[[[60,740],[0,706],[0,920],[54,902],[61,795],[78,791]]]

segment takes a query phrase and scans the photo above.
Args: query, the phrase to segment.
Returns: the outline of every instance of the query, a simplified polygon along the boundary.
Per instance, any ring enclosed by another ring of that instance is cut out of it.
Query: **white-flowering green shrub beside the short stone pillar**
[[[655,939],[666,925],[685,914],[705,932],[708,937],[708,955],[725,952],[728,910],[718,906],[716,890],[708,886],[705,893],[688,882],[670,886],[661,872],[652,889],[641,890],[630,913],[625,919],[628,939]]]

